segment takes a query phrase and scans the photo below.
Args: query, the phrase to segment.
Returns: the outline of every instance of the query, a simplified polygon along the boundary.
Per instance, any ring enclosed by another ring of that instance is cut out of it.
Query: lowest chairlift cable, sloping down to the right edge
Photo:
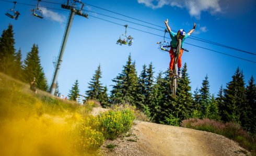
[[[10,1],[6,1],[6,0],[0,0],[0,1],[10,2]],[[10,3],[13,3],[13,2],[10,2]],[[24,3],[19,3],[19,4],[34,6],[34,5],[24,4]],[[45,8],[49,8],[49,7],[45,7]],[[66,11],[66,10],[64,10],[64,9],[56,9],[56,8],[49,8],[49,9],[55,9],[55,10]],[[113,23],[113,24],[117,24],[117,25],[120,25],[120,26],[122,26],[122,27],[124,26],[123,24],[119,24],[119,23],[116,23],[116,22],[113,22],[113,21],[109,21],[109,20],[106,20],[106,19],[102,19],[102,18],[99,18],[99,17],[92,16],[92,15],[90,15],[90,17],[94,17],[94,18],[97,18],[97,19],[100,19],[100,20],[104,20],[104,21],[107,21],[107,22],[111,22],[111,23]],[[141,32],[144,32],[144,33],[148,33],[148,34],[152,34],[152,35],[155,35],[155,36],[162,37],[162,35],[154,34],[154,33],[148,32],[148,31],[143,31],[143,30],[139,30],[139,29],[136,29],[136,28],[132,28],[132,27],[129,27],[129,28],[130,28],[130,29],[137,30],[137,31],[141,31]],[[166,37],[166,38],[168,38],[168,37]],[[168,38],[168,39],[171,39],[171,38]],[[256,63],[255,61],[251,61],[251,60],[248,60],[248,59],[243,59],[243,58],[236,57],[236,56],[233,56],[233,55],[225,54],[225,53],[222,53],[222,52],[219,52],[219,51],[216,51],[216,50],[204,48],[204,47],[197,46],[197,45],[194,45],[194,44],[189,44],[189,43],[185,43],[185,44],[192,45],[192,46],[199,47],[199,48],[203,48],[203,49],[210,50],[210,51],[214,51],[214,52],[216,52],[216,53],[223,54],[223,55],[227,55],[227,56],[230,56],[230,57],[235,57],[235,58],[238,58],[238,59],[242,59],[242,60],[245,60],[245,61],[249,61],[249,62]]]

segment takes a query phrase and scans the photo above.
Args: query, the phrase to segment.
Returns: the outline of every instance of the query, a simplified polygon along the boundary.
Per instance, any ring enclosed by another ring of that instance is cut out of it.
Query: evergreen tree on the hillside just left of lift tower
[[[31,51],[27,54],[26,59],[24,60],[24,66],[22,67],[23,72],[23,81],[30,83],[34,77],[36,77],[37,88],[41,90],[48,90],[48,84],[41,67],[40,57],[38,46],[33,44]]]

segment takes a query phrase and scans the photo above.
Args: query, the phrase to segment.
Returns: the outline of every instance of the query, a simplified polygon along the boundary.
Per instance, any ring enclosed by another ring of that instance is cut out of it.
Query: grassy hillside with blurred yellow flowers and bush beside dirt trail
[[[89,114],[84,106],[61,100],[0,73],[0,155],[94,155],[105,139],[131,128],[133,111]]]

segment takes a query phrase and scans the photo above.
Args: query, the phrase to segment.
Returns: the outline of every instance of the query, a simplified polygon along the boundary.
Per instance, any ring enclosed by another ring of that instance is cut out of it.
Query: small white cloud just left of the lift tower
[[[40,8],[43,12],[43,17],[52,21],[63,23],[66,21],[66,17],[64,15],[60,15],[57,12],[52,10],[48,10],[46,8]]]

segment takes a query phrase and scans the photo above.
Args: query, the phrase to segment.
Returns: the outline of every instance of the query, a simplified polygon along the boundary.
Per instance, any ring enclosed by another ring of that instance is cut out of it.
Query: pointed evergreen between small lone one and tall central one
[[[101,78],[101,70],[99,65],[97,70],[95,71],[95,74],[92,76],[91,81],[88,83],[89,90],[85,92],[85,94],[87,95],[86,99],[95,99],[98,101],[107,102],[101,99],[103,98],[104,87],[100,83],[100,78]]]

